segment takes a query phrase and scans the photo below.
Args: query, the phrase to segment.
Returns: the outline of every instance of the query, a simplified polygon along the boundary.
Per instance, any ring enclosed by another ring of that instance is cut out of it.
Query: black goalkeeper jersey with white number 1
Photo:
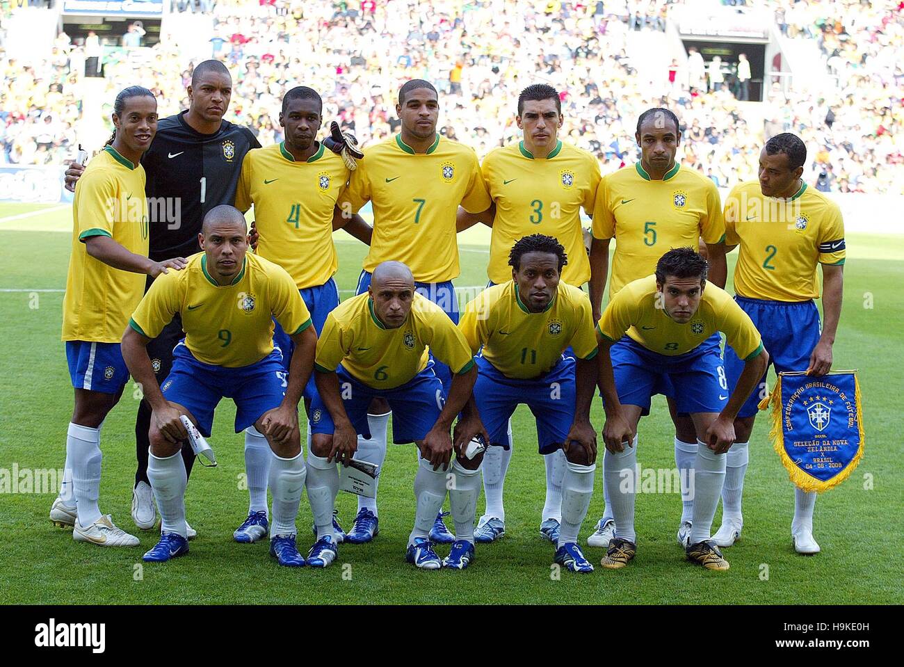
[[[202,135],[185,122],[185,113],[159,121],[141,159],[147,174],[149,256],[154,261],[201,250],[198,233],[204,214],[214,206],[235,203],[241,161],[260,147],[248,127],[224,120],[218,132]]]

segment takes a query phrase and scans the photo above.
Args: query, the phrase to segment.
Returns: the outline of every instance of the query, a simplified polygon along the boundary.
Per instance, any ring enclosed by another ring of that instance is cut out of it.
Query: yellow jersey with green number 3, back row
[[[561,141],[546,159],[535,158],[524,142],[496,148],[484,158],[484,180],[496,204],[490,263],[496,284],[512,279],[509,252],[530,234],[559,240],[568,255],[561,279],[580,287],[590,279],[580,209],[593,213],[599,183],[597,158]]]

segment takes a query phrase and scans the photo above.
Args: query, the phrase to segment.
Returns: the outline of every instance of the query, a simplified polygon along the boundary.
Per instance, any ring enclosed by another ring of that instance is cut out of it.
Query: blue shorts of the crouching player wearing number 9
[[[267,410],[278,408],[286,395],[287,374],[282,354],[274,349],[257,363],[239,368],[199,362],[184,341],[173,350],[173,368],[160,389],[167,400],[184,406],[210,437],[213,410],[220,399],[235,401],[235,432],[254,424]]]

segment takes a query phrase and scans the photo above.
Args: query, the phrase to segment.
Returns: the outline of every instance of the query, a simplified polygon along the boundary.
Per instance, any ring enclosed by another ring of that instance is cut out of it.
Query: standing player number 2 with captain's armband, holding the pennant
[[[792,134],[773,136],[759,154],[759,180],[739,183],[725,202],[726,242],[739,245],[735,301],[763,332],[777,372],[821,376],[832,368],[832,345],[842,311],[844,223],[838,205],[801,178],[806,146]],[[823,315],[816,266],[823,268]],[[739,382],[743,363],[725,351],[729,386]],[[761,379],[766,387],[766,376]],[[765,396],[765,393],[763,394]],[[722,489],[722,525],[713,540],[729,547],[743,526],[741,493],[749,461],[748,443],[757,416],[754,395],[735,421],[738,440],[728,455]],[[797,553],[814,554],[815,493],[795,488],[791,536]]]

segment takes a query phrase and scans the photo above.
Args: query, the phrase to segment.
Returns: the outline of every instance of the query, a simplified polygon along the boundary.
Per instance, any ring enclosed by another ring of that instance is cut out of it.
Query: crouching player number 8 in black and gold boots
[[[636,553],[637,423],[649,414],[650,397],[664,380],[697,432],[687,557],[707,569],[729,568],[710,539],[725,477],[723,455],[735,441],[734,418],[769,357],[750,318],[724,290],[707,282],[707,268],[694,249],[671,249],[656,263],[653,276],[619,290],[599,320],[599,389],[606,410],[603,475],[616,521],[604,568],[624,568]],[[716,332],[724,333],[744,360],[730,392],[719,348],[705,343]]]

